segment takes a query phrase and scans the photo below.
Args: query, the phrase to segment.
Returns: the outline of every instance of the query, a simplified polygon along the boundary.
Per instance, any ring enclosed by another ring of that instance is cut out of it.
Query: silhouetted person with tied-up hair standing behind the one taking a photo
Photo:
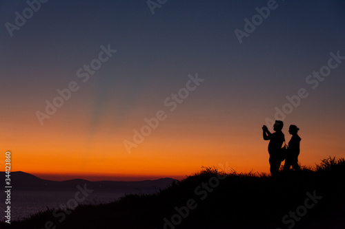
[[[299,171],[301,169],[297,163],[299,155],[299,142],[301,142],[301,138],[299,138],[299,135],[297,135],[298,131],[299,129],[295,125],[290,125],[288,129],[288,133],[293,136],[291,137],[290,142],[288,142],[288,151],[286,153],[284,171],[288,171],[290,166],[293,166],[295,171]]]

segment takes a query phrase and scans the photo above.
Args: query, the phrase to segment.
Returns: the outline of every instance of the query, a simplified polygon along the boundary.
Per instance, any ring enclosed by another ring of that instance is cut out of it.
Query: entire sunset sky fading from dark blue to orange
[[[11,37],[6,23],[28,4],[1,1],[0,170],[11,151],[12,171],[57,180],[181,178],[226,163],[268,173],[262,125],[300,88],[308,97],[283,129],[287,142],[288,125],[300,129],[299,162],[344,157],[345,60],[315,89],[306,78],[331,52],[345,56],[345,2],[277,0],[240,44],[234,30],[267,3],[167,1],[152,14],[144,0],[50,0]],[[117,52],[83,83],[77,70],[108,44]],[[188,74],[205,80],[170,111]],[[36,112],[71,81],[79,90],[41,125]],[[124,140],[159,110],[166,120],[128,153]]]

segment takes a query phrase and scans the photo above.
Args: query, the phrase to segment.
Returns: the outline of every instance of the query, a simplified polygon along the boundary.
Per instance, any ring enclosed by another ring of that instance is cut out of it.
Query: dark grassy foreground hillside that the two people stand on
[[[53,210],[1,228],[345,228],[345,160],[277,177],[204,168],[152,195],[81,205],[63,221]],[[47,224],[46,224],[47,226]]]

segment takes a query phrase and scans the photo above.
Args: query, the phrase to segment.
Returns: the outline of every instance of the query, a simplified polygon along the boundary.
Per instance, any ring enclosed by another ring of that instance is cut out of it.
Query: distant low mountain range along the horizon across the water
[[[5,177],[5,172],[0,172],[0,177]],[[5,179],[2,179],[5,182]],[[48,179],[41,179],[30,173],[24,172],[12,172],[11,183],[12,187],[16,190],[76,190],[76,187],[87,185],[88,188],[93,190],[112,190],[117,193],[126,193],[128,190],[140,190],[146,192],[146,190],[157,190],[166,188],[175,179],[161,178],[156,180],[145,180],[140,182],[113,182],[113,181],[101,181],[90,182],[86,179],[69,179],[63,182],[51,181]],[[3,184],[5,186],[5,184]]]

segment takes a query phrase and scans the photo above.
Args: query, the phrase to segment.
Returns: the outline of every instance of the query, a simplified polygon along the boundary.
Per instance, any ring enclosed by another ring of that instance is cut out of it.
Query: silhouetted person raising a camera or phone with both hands
[[[264,125],[262,130],[264,131],[264,140],[270,140],[268,144],[268,153],[270,154],[270,175],[275,176],[279,173],[279,167],[282,163],[281,151],[282,144],[285,141],[284,133],[282,132],[284,123],[280,120],[276,120],[273,125],[275,133],[270,133],[268,128]]]

